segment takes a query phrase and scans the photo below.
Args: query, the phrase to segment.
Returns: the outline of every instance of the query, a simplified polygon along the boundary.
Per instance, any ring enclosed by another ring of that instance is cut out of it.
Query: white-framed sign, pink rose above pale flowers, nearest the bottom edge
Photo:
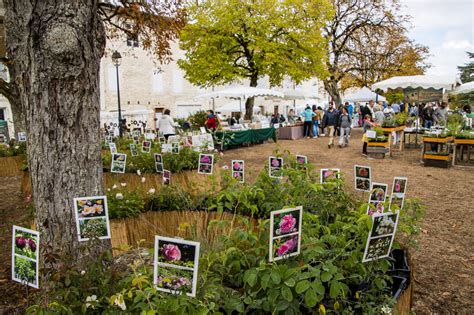
[[[158,291],[196,296],[200,243],[155,236],[153,283]]]

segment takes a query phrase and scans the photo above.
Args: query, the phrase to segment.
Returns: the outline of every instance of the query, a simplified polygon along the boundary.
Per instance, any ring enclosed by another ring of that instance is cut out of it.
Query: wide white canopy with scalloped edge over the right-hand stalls
[[[446,75],[413,75],[403,77],[393,77],[384,81],[380,81],[372,85],[372,90],[380,89],[387,91],[388,89],[446,89],[452,90],[459,80],[455,76]]]

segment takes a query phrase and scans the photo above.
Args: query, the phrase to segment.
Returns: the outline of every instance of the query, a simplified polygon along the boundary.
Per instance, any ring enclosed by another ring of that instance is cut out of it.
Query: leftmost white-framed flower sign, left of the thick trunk
[[[39,232],[13,226],[12,280],[38,289]]]

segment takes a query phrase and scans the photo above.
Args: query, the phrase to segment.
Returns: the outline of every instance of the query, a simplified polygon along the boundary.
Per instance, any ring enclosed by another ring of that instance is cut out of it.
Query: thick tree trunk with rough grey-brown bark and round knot
[[[43,258],[80,258],[73,198],[103,192],[99,64],[105,33],[97,1],[4,0]],[[109,241],[98,246],[109,247]]]

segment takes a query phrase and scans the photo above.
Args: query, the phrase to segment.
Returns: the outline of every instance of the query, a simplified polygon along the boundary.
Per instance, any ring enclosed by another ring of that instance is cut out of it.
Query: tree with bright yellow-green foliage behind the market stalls
[[[299,83],[325,73],[326,41],[321,29],[331,17],[328,0],[212,0],[190,5],[181,33],[186,78],[199,86],[249,80],[257,86],[286,77]],[[247,100],[246,119],[253,98]]]

